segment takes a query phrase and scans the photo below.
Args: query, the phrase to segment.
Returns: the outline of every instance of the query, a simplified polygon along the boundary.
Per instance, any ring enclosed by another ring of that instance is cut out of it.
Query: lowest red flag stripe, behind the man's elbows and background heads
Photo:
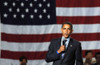
[[[86,50],[82,51],[83,57],[85,57]],[[95,56],[96,52],[100,52],[100,50],[92,50],[93,56]],[[1,50],[1,58],[7,59],[19,59],[20,56],[26,56],[29,60],[37,60],[37,59],[45,59],[47,51],[40,52],[14,52]]]

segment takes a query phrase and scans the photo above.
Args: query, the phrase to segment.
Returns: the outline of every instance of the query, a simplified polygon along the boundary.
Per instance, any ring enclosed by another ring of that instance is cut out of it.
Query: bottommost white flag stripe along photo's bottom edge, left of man
[[[11,60],[11,59],[0,59],[0,65],[20,65],[19,60]],[[27,65],[52,65],[51,63],[46,63],[45,60],[28,60]]]

